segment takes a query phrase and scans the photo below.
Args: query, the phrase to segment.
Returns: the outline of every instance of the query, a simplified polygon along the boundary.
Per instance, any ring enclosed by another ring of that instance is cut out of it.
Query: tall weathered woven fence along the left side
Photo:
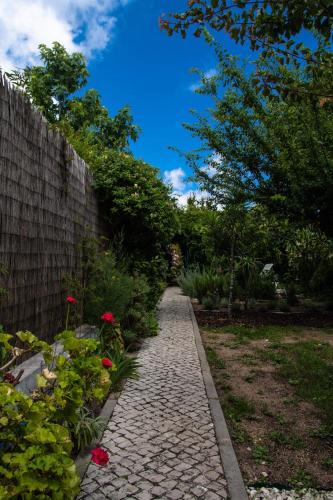
[[[103,233],[85,163],[0,74],[0,324],[52,340],[82,240]]]

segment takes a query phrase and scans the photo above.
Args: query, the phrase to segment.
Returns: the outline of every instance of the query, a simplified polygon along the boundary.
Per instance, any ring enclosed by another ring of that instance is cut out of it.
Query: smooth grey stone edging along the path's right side
[[[202,376],[204,384],[206,386],[210,411],[215,426],[217,444],[220,450],[224,474],[228,482],[230,499],[247,500],[248,495],[246,493],[243,477],[238,465],[235,450],[232,445],[224,414],[216,392],[215,384],[210,372],[206,353],[201,340],[198,323],[194,315],[190,298],[188,298],[188,306],[193,324],[193,331],[201,364]]]

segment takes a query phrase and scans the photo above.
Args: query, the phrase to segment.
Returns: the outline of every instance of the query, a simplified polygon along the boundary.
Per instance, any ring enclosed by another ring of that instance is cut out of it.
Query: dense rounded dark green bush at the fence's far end
[[[113,232],[122,231],[126,251],[150,260],[174,234],[174,203],[157,170],[129,154],[105,150],[90,163],[93,186]]]

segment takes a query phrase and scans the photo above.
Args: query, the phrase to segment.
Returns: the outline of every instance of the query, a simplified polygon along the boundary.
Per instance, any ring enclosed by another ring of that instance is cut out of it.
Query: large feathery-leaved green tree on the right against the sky
[[[222,205],[235,199],[259,203],[332,235],[332,104],[308,95],[269,100],[258,94],[235,58],[218,47],[217,55],[216,76],[203,76],[198,90],[214,105],[185,125],[203,145],[201,152],[187,155],[197,180]],[[274,60],[261,64],[273,65],[283,78],[291,71]],[[303,78],[298,70],[294,74]]]

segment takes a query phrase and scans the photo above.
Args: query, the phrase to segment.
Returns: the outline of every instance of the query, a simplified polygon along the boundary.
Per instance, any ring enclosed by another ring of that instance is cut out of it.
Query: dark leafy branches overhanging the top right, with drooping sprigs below
[[[303,0],[189,0],[186,10],[162,17],[160,25],[169,36],[180,33],[183,38],[193,26],[196,28],[194,36],[204,34],[206,40],[210,39],[206,29],[209,26],[226,32],[236,43],[249,42],[251,49],[260,50],[264,57],[277,57],[281,66],[293,62],[297,67],[305,65],[309,73],[321,74],[323,68],[332,63],[330,52],[324,56],[321,52],[322,46],[329,47],[332,41],[332,17],[331,3],[322,0],[312,0],[309,4]],[[313,50],[297,39],[303,30],[320,35]],[[264,95],[274,98],[276,92],[281,91],[280,79],[274,72],[261,72],[260,69],[258,62],[257,86]],[[292,87],[290,83],[293,81],[289,81],[289,88],[283,88],[284,92],[288,93]],[[305,88],[308,92],[329,96],[332,87],[309,85]],[[299,91],[304,92],[304,89]]]

